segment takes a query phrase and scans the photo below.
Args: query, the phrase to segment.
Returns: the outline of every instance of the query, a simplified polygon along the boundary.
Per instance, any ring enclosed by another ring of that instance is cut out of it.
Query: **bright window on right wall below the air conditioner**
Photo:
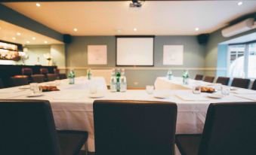
[[[228,75],[233,78],[256,78],[256,43],[230,45]]]

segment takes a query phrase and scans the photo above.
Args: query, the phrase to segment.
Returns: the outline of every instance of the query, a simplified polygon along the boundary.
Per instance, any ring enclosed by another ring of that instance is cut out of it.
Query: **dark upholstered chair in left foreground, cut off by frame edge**
[[[87,132],[57,132],[51,105],[43,100],[0,100],[0,154],[75,155]]]

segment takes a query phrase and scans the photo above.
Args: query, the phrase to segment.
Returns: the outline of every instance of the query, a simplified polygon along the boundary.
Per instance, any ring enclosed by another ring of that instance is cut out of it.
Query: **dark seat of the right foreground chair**
[[[176,135],[176,144],[182,155],[198,155],[201,134]]]

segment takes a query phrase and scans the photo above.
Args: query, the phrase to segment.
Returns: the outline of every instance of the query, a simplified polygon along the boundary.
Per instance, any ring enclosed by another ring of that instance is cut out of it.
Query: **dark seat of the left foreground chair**
[[[60,141],[61,155],[79,154],[80,148],[88,138],[88,133],[83,131],[60,130],[57,131]]]

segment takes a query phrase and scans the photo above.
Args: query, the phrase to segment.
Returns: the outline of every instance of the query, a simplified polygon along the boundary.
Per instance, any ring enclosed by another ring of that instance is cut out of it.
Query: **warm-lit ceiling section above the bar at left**
[[[45,44],[45,41],[47,41],[47,44],[63,44],[53,38],[49,38],[45,35],[32,32],[2,20],[0,20],[0,40],[18,44]],[[27,41],[29,41],[29,43]]]

